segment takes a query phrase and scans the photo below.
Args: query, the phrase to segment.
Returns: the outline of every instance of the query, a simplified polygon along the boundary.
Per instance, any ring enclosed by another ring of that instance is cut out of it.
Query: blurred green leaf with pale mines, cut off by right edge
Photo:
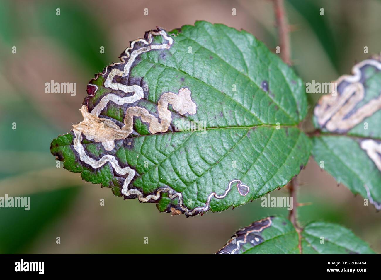
[[[312,154],[338,182],[381,210],[381,62],[367,59],[352,72],[336,81],[337,94],[323,96],[315,107],[322,134],[314,138]]]

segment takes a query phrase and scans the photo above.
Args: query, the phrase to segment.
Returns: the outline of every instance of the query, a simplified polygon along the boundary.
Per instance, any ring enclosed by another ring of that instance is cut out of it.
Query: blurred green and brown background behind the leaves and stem
[[[381,51],[378,0],[288,0],[285,5],[293,64],[305,82],[350,74],[355,62]],[[118,61],[129,41],[146,30],[172,30],[197,19],[245,29],[271,50],[278,45],[269,0],[1,0],[0,196],[30,196],[31,209],[0,208],[0,253],[214,253],[239,227],[268,215],[288,215],[285,208],[262,208],[256,200],[234,211],[171,216],[153,203],[113,197],[110,189],[81,181],[62,164],[56,167],[50,142],[82,120],[80,104],[93,75]],[[44,84],[51,80],[76,82],[77,95],[45,93]],[[318,98],[309,96],[311,106]],[[14,122],[17,130],[12,130]],[[302,224],[338,222],[381,252],[381,213],[373,206],[363,206],[363,198],[337,186],[312,158],[299,182],[299,202],[312,202],[299,208]]]

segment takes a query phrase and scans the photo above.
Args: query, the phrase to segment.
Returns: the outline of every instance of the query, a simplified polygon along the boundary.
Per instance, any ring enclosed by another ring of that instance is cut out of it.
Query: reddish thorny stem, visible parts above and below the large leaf
[[[276,18],[277,27],[278,27],[278,35],[280,40],[280,57],[283,59],[285,63],[287,63],[288,65],[291,65],[290,37],[288,34],[289,27],[287,23],[287,15],[284,9],[284,2],[283,0],[273,0],[273,2],[274,2],[275,18]],[[293,205],[292,205],[292,210],[290,210],[290,214],[288,218],[290,219],[291,223],[295,227],[296,232],[298,232],[298,238],[299,238],[298,248],[299,248],[299,252],[302,253],[301,234],[300,234],[301,227],[298,224],[298,216],[297,216],[297,207],[298,207],[297,176],[291,179],[289,183],[289,189],[290,189],[290,196],[293,198]]]

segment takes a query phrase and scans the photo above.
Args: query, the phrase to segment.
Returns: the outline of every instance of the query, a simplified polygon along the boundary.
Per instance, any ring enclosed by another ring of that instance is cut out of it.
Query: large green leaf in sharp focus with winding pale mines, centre
[[[86,181],[193,216],[261,197],[306,164],[303,83],[251,34],[151,30],[121,59],[90,81],[84,121],[51,143]]]

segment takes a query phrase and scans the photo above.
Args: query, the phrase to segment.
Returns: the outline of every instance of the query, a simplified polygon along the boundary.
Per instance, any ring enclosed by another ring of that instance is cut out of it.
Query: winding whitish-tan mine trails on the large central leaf
[[[153,36],[162,36],[164,43],[152,44]],[[137,43],[140,43],[142,46],[140,46],[139,48],[134,48],[134,46]],[[80,109],[83,116],[83,121],[78,123],[77,125],[74,125],[73,127],[73,132],[75,135],[75,138],[73,140],[73,146],[76,152],[78,153],[80,160],[90,165],[92,168],[97,169],[103,166],[105,163],[110,162],[110,164],[118,174],[128,174],[125,181],[123,182],[122,187],[122,194],[126,198],[130,196],[138,197],[138,199],[141,202],[148,202],[150,200],[157,201],[160,198],[161,193],[165,192],[171,199],[176,197],[179,198],[178,206],[184,213],[186,213],[187,215],[194,215],[208,211],[210,208],[211,199],[213,197],[218,199],[226,197],[226,195],[232,190],[232,186],[236,186],[239,194],[242,196],[247,195],[250,191],[250,188],[242,184],[240,180],[234,179],[229,183],[227,189],[223,194],[218,195],[216,194],[216,192],[211,192],[208,195],[208,199],[205,203],[205,206],[196,207],[192,210],[189,210],[183,203],[182,194],[171,189],[171,187],[159,188],[157,189],[155,194],[150,194],[147,196],[144,196],[144,194],[142,194],[142,192],[138,189],[129,189],[130,182],[135,176],[135,170],[133,170],[129,166],[122,168],[119,165],[117,158],[114,157],[114,155],[104,155],[99,160],[95,160],[94,158],[91,158],[88,154],[86,154],[82,144],[82,135],[84,135],[88,140],[93,139],[96,142],[101,142],[105,150],[113,150],[115,147],[115,140],[126,139],[133,131],[133,117],[140,117],[142,122],[148,123],[150,133],[164,133],[168,130],[172,121],[171,112],[170,110],[168,110],[168,104],[171,104],[173,110],[178,112],[178,114],[180,115],[196,114],[197,106],[192,101],[191,90],[189,88],[180,88],[178,93],[163,93],[160,99],[158,100],[157,110],[158,116],[161,120],[160,122],[159,119],[154,115],[150,114],[147,109],[138,106],[128,107],[126,109],[124,125],[122,127],[119,127],[115,122],[113,122],[110,119],[99,117],[101,111],[107,106],[109,102],[114,102],[115,104],[123,105],[131,104],[138,101],[139,99],[144,98],[144,91],[140,85],[125,85],[122,83],[118,83],[115,82],[115,77],[127,77],[130,73],[131,66],[133,65],[135,59],[139,56],[139,54],[149,52],[152,50],[169,49],[172,44],[173,39],[169,37],[164,30],[150,31],[147,35],[147,40],[138,39],[131,42],[130,47],[127,48],[124,52],[125,56],[121,57],[122,62],[110,65],[117,66],[118,64],[125,63],[125,60],[128,59],[123,69],[119,69],[120,67],[113,68],[107,75],[106,81],[104,82],[104,86],[112,90],[119,90],[123,91],[124,93],[133,94],[127,97],[120,97],[116,94],[109,93],[106,96],[102,97],[102,99],[91,110],[91,112],[88,112],[87,106],[83,105]],[[107,69],[110,66],[106,67],[103,75],[107,74]],[[89,84],[88,86],[93,86],[95,88],[94,94],[98,90],[98,86],[96,85]],[[172,214],[181,214],[181,211],[176,209],[171,209],[171,211]]]

